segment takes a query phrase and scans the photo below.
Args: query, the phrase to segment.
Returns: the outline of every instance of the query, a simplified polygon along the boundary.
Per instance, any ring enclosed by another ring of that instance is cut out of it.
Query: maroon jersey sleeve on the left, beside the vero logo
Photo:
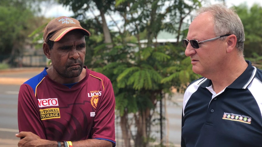
[[[18,128],[19,132],[33,132],[41,139],[46,139],[38,102],[33,89],[28,84],[22,84],[18,94]]]

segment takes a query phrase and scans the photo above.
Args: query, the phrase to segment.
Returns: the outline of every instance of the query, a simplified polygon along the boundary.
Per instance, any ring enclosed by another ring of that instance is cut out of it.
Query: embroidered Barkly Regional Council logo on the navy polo
[[[251,124],[252,118],[246,115],[234,114],[234,113],[226,113],[224,112],[222,119],[232,120],[237,122],[243,122],[247,124]]]

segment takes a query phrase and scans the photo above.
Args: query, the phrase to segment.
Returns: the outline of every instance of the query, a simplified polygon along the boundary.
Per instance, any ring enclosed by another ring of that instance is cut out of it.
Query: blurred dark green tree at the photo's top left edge
[[[0,1],[0,62],[7,59],[12,63],[22,54],[23,46],[28,42],[27,35],[33,31],[33,12],[25,1]]]

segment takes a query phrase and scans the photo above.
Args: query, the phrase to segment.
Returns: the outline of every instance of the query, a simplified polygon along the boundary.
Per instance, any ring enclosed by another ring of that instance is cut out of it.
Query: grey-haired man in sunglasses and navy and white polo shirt
[[[182,147],[262,146],[262,71],[244,59],[244,41],[232,9],[199,9],[182,41],[203,76],[184,94]]]

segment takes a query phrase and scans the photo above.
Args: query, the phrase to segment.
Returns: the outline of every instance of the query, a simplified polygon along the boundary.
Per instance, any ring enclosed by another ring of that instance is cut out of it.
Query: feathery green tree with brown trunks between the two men
[[[160,45],[153,39],[164,30],[177,34],[176,39],[180,40],[187,34],[184,19],[200,6],[200,2],[193,0],[191,5],[181,0],[59,2],[70,6],[74,17],[92,33],[87,39],[86,65],[112,81],[125,146],[131,146],[131,139],[135,146],[147,146],[157,102],[164,93],[171,93],[171,87],[183,90],[190,81],[198,78],[179,41]],[[96,9],[100,15],[95,15]],[[110,31],[111,42],[106,41],[105,14],[112,19],[108,22],[117,28],[117,31]],[[119,26],[116,22],[119,20],[112,14],[118,14],[123,25]],[[165,22],[167,17],[171,21]],[[146,39],[146,43],[140,42],[141,39]],[[135,123],[136,133],[131,132],[130,122]]]

